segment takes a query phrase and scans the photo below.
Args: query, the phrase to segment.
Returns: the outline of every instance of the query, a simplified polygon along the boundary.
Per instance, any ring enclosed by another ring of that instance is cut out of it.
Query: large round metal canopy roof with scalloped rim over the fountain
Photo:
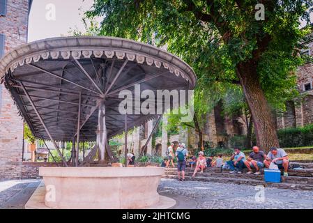
[[[134,84],[140,84],[141,91],[187,90],[194,89],[196,82],[188,64],[162,49],[98,36],[52,38],[13,49],[0,61],[0,77],[33,134],[49,139],[26,93],[59,141],[70,141],[77,132],[79,95],[80,138],[96,141],[101,100],[108,137],[112,137],[123,132],[125,124],[125,115],[119,113],[121,90],[134,91]],[[154,116],[128,115],[128,128]]]

